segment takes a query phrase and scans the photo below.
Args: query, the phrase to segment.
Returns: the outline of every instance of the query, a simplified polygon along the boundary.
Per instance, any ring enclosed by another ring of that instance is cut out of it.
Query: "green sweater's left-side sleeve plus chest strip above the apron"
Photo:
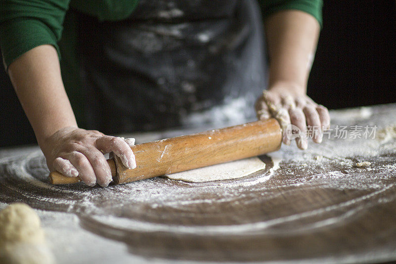
[[[128,17],[139,0],[0,0],[0,48],[6,67],[23,53],[44,44],[56,44],[71,6],[99,20]]]

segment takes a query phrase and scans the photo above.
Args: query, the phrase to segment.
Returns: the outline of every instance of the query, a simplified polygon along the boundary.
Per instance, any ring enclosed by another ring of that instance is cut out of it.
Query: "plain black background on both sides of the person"
[[[396,103],[395,4],[324,0],[308,96],[330,109]],[[0,147],[36,143],[3,69],[0,98]]]

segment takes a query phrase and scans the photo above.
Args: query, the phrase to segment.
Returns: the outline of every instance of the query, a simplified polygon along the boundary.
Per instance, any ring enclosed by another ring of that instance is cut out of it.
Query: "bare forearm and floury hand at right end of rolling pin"
[[[265,29],[270,56],[269,87],[256,103],[257,115],[260,119],[270,116],[278,119],[286,145],[291,143],[288,127],[295,125],[300,132],[297,147],[305,150],[307,127],[313,141],[320,143],[323,129],[330,125],[327,108],[306,95],[320,26],[308,13],[285,10],[270,15]]]

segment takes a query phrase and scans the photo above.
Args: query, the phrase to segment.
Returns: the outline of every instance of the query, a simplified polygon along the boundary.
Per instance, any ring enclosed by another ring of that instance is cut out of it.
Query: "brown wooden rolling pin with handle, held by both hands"
[[[271,118],[132,146],[137,164],[134,169],[125,167],[112,154],[107,162],[113,181],[121,184],[263,155],[278,150],[281,141],[279,123]],[[81,181],[57,171],[49,174],[49,180],[51,184]]]

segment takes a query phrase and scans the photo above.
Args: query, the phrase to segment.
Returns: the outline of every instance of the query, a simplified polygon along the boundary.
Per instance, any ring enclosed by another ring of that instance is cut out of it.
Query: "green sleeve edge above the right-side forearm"
[[[323,0],[258,0],[264,17],[286,9],[301,10],[318,20],[322,27]]]

